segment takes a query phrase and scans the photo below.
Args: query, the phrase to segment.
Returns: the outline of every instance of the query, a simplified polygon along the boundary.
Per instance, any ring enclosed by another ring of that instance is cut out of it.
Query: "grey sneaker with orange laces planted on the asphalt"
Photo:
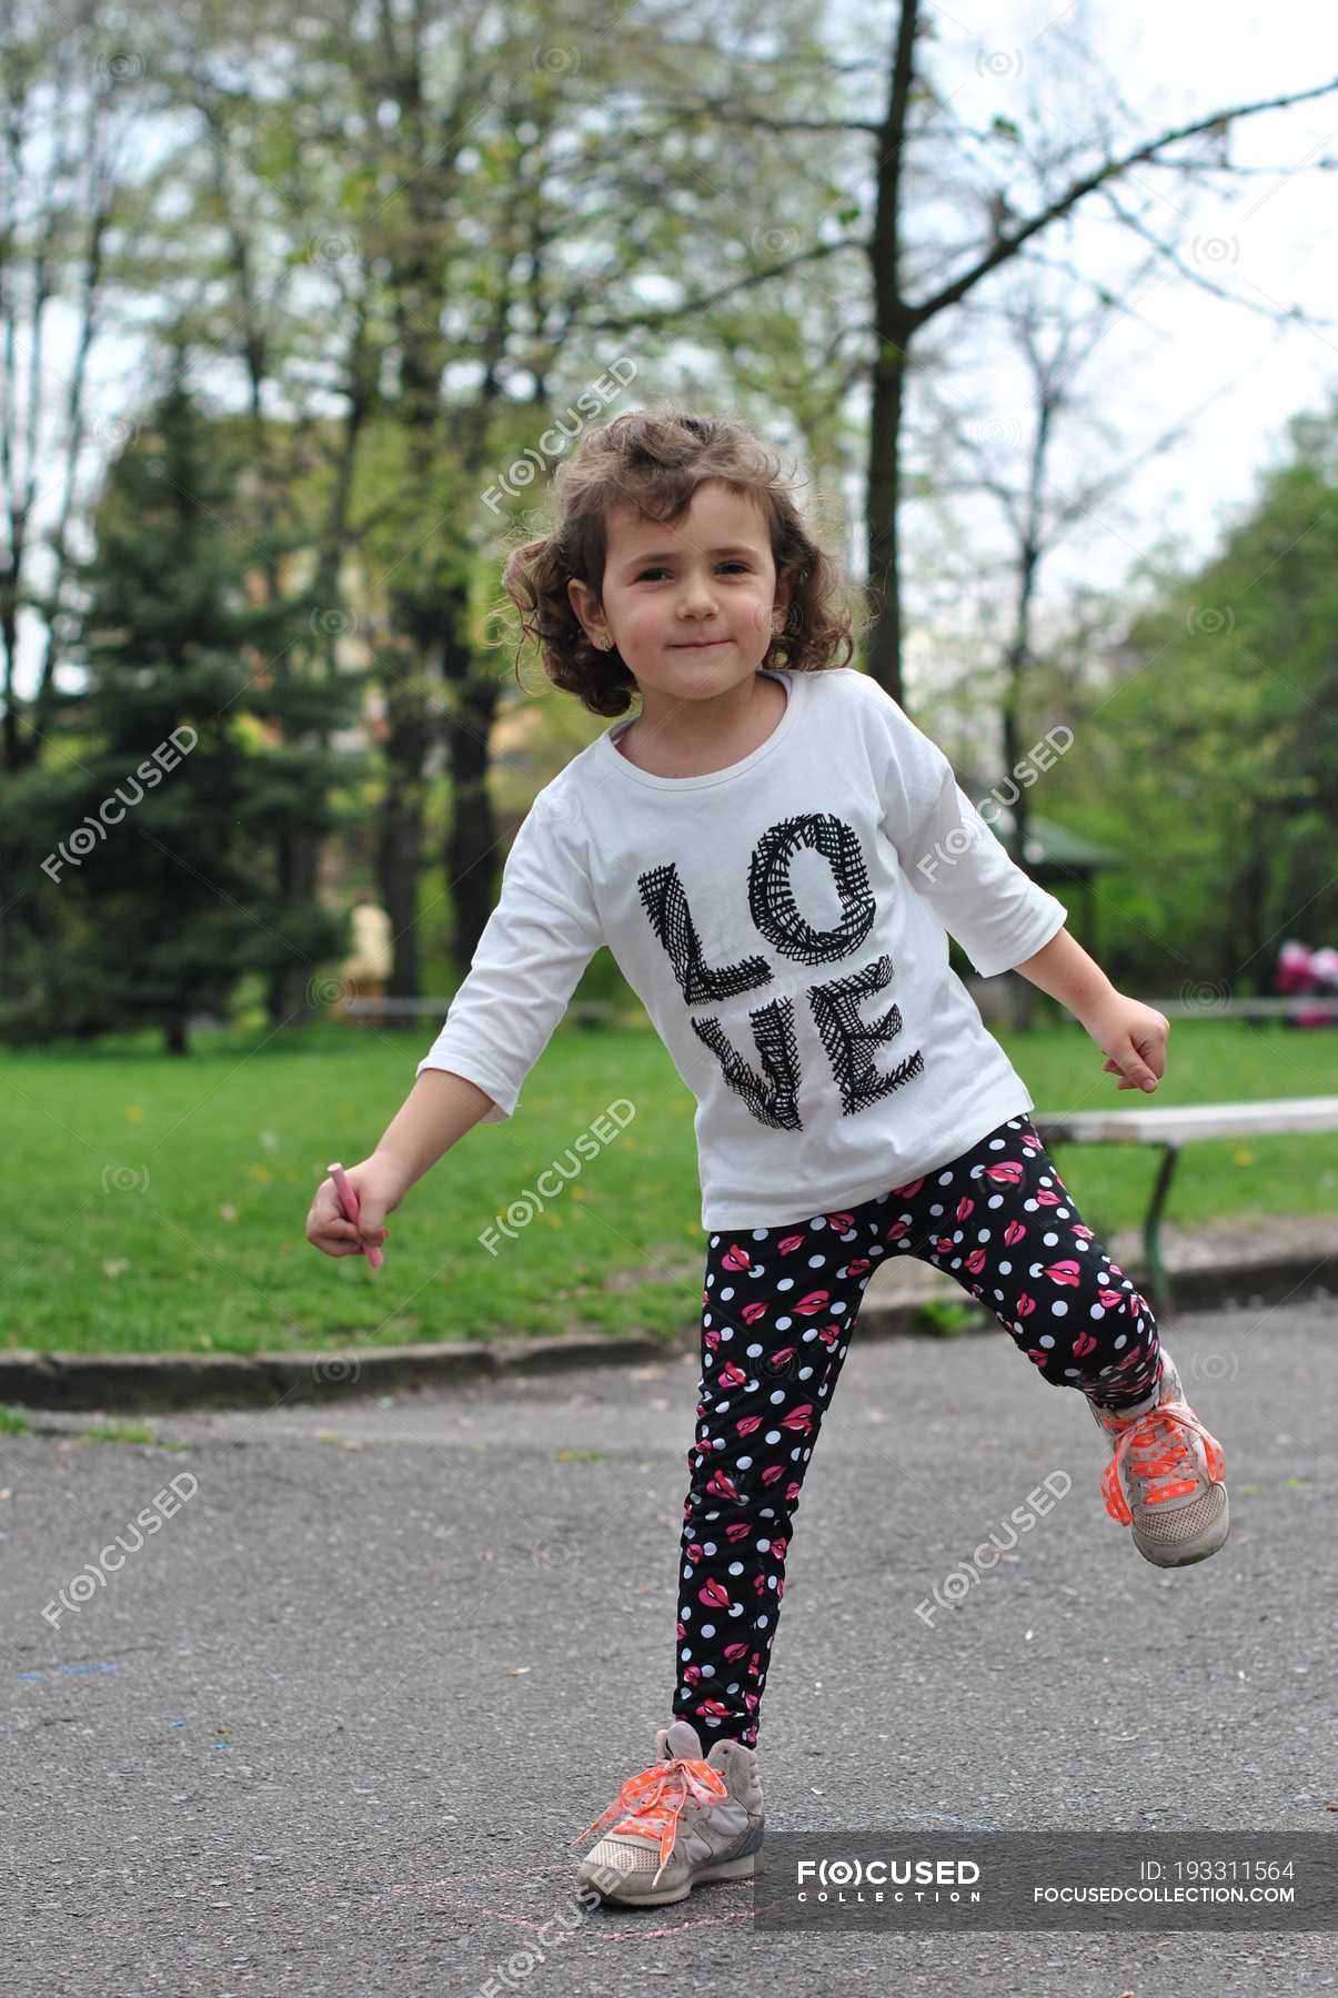
[[[622,1812],[622,1816],[618,1816]],[[718,1740],[702,1758],[690,1720],[656,1734],[656,1760],[622,1784],[608,1810],[570,1844],[618,1822],[576,1866],[580,1886],[628,1908],[686,1900],[702,1880],[744,1880],[762,1850],[756,1748]]]

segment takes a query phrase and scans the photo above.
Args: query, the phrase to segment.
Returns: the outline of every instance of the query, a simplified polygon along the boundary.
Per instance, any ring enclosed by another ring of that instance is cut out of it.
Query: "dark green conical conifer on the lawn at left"
[[[306,741],[328,685],[274,673],[310,601],[248,601],[276,549],[250,533],[242,448],[202,420],[184,368],[178,346],[112,466],[96,549],[72,569],[82,735],[0,813],[6,859],[40,883],[38,929],[64,933],[60,961],[8,1009],[10,1033],[154,1023],[180,1055],[192,1011],[224,1005],[248,971],[298,959],[310,975],[344,943],[344,921],[294,901],[274,867],[282,837],[330,829],[346,769]]]

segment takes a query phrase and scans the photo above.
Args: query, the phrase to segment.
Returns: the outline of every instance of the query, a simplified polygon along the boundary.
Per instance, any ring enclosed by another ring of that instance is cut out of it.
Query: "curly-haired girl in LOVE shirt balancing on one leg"
[[[1228,1532],[1224,1459],[1148,1303],[1102,1249],[1032,1097],[948,969],[1014,967],[1154,1091],[1170,1023],[1116,991],[1012,863],[944,753],[850,669],[842,577],[740,422],[676,408],[590,432],[552,533],[504,583],[548,675],[604,729],[544,785],[406,1105],[308,1239],[384,1215],[474,1123],[500,1123],[608,943],[696,1097],[702,1377],[688,1451],[672,1716],[572,1844],[606,1900],[750,1874],[758,1714],[804,1473],[886,1257],[948,1271],[1106,1431],[1102,1489],[1138,1552]],[[838,657],[842,653],[844,657]],[[580,1169],[572,1159],[572,1169]],[[612,1822],[610,1822],[612,1820]]]

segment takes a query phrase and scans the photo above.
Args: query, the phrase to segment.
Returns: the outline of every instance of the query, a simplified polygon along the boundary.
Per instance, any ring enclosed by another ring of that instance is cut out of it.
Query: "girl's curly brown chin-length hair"
[[[792,673],[846,665],[854,653],[848,583],[804,525],[780,460],[740,418],[696,416],[678,404],[616,416],[586,432],[558,466],[552,531],[514,547],[502,571],[502,587],[520,611],[516,663],[532,639],[556,687],[580,695],[592,715],[626,713],[636,679],[616,649],[590,643],[566,585],[580,577],[602,597],[610,507],[632,505],[648,519],[674,523],[706,480],[720,480],[762,509],[776,581],[784,577],[790,589],[784,629],[772,637],[762,665]],[[842,645],[844,657],[836,657]]]

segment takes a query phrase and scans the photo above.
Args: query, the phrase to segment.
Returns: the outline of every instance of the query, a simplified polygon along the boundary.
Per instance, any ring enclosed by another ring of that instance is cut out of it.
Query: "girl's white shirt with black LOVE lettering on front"
[[[1068,919],[876,679],[772,677],[786,711],[726,769],[654,777],[620,719],[544,785],[418,1063],[504,1121],[606,943],[696,1097],[704,1229],[858,1205],[1032,1111],[948,933],[990,977]]]

